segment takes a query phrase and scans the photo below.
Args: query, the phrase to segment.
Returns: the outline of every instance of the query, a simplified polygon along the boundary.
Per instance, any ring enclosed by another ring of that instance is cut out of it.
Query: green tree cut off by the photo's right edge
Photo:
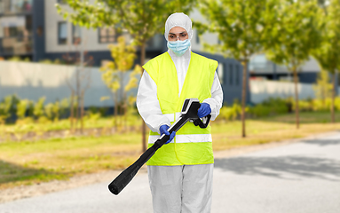
[[[333,76],[330,112],[331,121],[336,122],[334,102],[336,97],[336,70],[340,69],[340,2],[331,0],[329,4],[326,4],[326,2],[320,1],[319,4],[323,10],[323,12],[319,12],[319,30],[322,33],[322,41],[320,47],[312,51],[312,55],[318,60],[322,70],[327,70]]]

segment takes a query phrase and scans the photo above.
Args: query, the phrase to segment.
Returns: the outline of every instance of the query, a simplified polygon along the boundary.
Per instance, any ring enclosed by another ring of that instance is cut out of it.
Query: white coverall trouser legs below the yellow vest
[[[154,213],[209,213],[214,164],[147,166]]]

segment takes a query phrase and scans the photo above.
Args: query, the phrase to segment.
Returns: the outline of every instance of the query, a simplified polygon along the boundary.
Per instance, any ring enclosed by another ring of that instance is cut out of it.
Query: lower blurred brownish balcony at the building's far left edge
[[[31,36],[15,36],[0,38],[0,56],[18,56],[33,53]]]

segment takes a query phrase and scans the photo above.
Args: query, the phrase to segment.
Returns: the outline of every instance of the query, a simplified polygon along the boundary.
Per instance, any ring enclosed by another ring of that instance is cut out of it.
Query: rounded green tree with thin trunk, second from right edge
[[[309,0],[277,0],[271,15],[271,30],[266,31],[266,56],[293,73],[295,83],[296,123],[299,128],[297,72],[312,50],[320,45],[317,12],[319,8]]]

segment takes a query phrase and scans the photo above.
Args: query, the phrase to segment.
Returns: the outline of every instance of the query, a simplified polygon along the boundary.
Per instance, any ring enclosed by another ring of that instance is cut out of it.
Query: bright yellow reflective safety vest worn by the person
[[[184,100],[196,98],[202,102],[211,97],[217,61],[191,52],[190,64],[182,91],[178,97],[178,76],[175,64],[168,52],[149,60],[143,68],[157,85],[157,99],[162,114],[170,119],[171,124],[179,117]],[[157,132],[150,131],[149,144],[159,138]],[[174,142],[162,146],[147,165],[173,166],[213,163],[210,125],[206,129],[194,126],[192,122],[177,131]]]

